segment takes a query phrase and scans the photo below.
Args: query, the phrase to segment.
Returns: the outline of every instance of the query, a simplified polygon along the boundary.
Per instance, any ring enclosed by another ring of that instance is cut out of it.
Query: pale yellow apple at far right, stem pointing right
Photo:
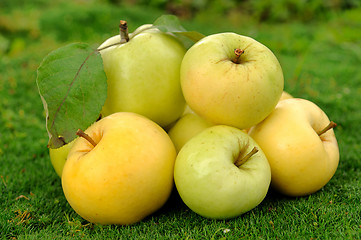
[[[333,129],[321,136],[330,120],[311,101],[282,100],[249,135],[265,152],[271,166],[271,186],[288,196],[320,190],[334,175],[339,149]]]

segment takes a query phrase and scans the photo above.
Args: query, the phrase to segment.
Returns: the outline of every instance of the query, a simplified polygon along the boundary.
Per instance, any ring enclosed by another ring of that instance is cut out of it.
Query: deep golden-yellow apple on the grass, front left
[[[97,224],[128,225],[161,208],[174,186],[176,150],[167,133],[135,113],[114,113],[90,126],[97,145],[78,138],[62,187],[70,206]]]

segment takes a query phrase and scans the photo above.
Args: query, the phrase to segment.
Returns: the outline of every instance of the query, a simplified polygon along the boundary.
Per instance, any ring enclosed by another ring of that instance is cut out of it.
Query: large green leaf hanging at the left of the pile
[[[99,117],[107,96],[100,54],[84,43],[51,52],[38,68],[37,86],[46,112],[50,148],[58,148]]]

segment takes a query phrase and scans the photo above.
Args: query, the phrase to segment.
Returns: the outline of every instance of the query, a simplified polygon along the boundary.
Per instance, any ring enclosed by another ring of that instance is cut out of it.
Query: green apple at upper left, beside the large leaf
[[[174,37],[158,29],[139,29],[127,43],[101,51],[108,79],[102,115],[135,112],[162,127],[183,113],[185,100],[180,87],[180,64],[186,49]],[[119,42],[119,35],[99,48]]]

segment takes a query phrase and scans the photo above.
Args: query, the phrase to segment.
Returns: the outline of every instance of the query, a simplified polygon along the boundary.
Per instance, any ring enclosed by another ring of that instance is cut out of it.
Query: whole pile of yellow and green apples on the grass
[[[108,82],[102,118],[50,149],[84,219],[139,222],[174,187],[194,212],[229,219],[259,205],[270,186],[305,196],[334,175],[335,124],[284,92],[280,63],[260,42],[218,33],[186,49],[146,24],[99,49]]]

